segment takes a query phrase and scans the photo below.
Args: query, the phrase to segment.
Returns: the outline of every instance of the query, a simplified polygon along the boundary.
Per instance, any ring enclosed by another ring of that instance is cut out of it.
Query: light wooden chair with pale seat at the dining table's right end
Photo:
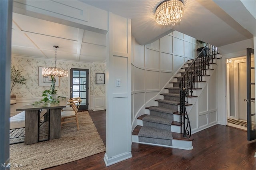
[[[70,123],[70,122],[76,122],[76,127],[77,130],[79,130],[79,125],[78,125],[78,109],[79,106],[82,102],[82,99],[73,101],[73,100],[68,100],[70,102],[68,105],[71,106],[72,110],[67,110],[67,111],[62,111],[61,112],[61,125],[64,123]],[[71,118],[71,119],[68,119]],[[75,118],[75,119],[72,119]],[[65,121],[65,119],[68,119]]]

